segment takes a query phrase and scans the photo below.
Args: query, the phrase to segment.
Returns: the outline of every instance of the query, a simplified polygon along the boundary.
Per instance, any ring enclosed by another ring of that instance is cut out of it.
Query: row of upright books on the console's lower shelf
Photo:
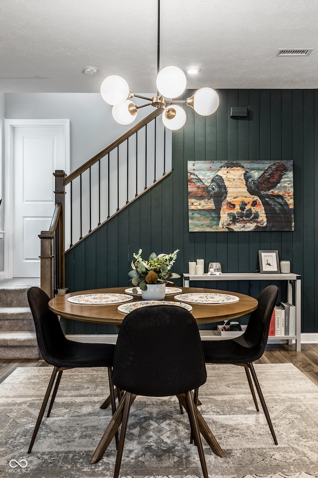
[[[296,306],[289,302],[281,302],[274,307],[268,337],[289,335],[296,335]]]

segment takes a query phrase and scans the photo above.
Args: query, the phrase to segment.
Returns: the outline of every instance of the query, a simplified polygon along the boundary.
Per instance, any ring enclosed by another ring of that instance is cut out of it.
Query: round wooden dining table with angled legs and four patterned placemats
[[[57,295],[49,301],[49,308],[61,317],[97,324],[113,324],[120,329],[121,323],[127,313],[135,307],[159,304],[178,305],[187,308],[198,325],[225,320],[237,319],[250,314],[257,307],[257,300],[248,295],[219,289],[206,289],[201,287],[171,287],[163,300],[143,300],[140,291],[134,293],[132,288],[112,287],[103,289],[90,289]],[[216,299],[215,299],[216,298]],[[215,299],[215,300],[214,300]],[[115,302],[114,302],[115,301]],[[214,301],[214,303],[213,303]],[[129,304],[129,305],[128,305]],[[118,310],[118,308],[120,310]],[[117,395],[120,391],[117,391]],[[177,397],[186,409],[186,402],[182,394]],[[108,445],[115,436],[122,422],[123,400],[112,416],[102,438],[100,439],[90,463],[98,462],[103,456]],[[100,408],[110,404],[109,397]],[[180,407],[182,409],[182,407]],[[211,450],[219,457],[225,453],[213,435],[200,411],[197,409],[199,429]]]

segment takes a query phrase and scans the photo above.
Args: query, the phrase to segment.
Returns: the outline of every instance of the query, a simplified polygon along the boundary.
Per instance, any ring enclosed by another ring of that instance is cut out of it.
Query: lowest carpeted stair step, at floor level
[[[39,359],[35,332],[0,332],[0,359]]]

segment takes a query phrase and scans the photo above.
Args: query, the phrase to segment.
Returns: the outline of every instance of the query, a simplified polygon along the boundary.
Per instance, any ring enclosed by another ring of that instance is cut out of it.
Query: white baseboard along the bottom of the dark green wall
[[[200,336],[202,340],[220,340],[220,337],[216,330],[200,330]],[[94,334],[94,335],[67,335],[67,339],[75,340],[77,342],[88,342],[90,344],[116,344],[117,334]],[[275,341],[276,342],[276,341]],[[277,337],[277,343],[286,342],[280,341]],[[318,344],[318,334],[315,333],[303,333],[301,334],[302,344]]]

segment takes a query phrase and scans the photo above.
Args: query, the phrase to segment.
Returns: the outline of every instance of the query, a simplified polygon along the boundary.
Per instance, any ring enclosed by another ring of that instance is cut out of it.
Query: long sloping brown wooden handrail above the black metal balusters
[[[142,129],[144,126],[146,126],[146,124],[150,123],[153,119],[157,118],[157,116],[159,116],[160,113],[162,113],[163,111],[164,111],[164,108],[157,108],[153,113],[151,113],[146,118],[142,119],[138,124],[135,124],[135,126],[133,126],[131,129],[129,129],[122,136],[115,139],[115,141],[113,141],[111,144],[109,144],[106,148],[104,148],[102,151],[97,153],[91,159],[89,159],[84,164],[82,164],[76,171],[74,171],[69,176],[67,176],[64,179],[64,186],[66,186],[71,181],[73,181],[75,178],[77,178],[80,174],[82,174],[84,171],[86,171],[86,169],[90,168],[93,164],[95,164],[97,161],[99,161],[99,159],[103,158],[104,156],[106,156],[106,154],[110,153],[113,149],[115,149],[117,146],[119,146],[122,142],[126,141],[126,139],[130,138],[130,136],[132,136],[137,131]]]

